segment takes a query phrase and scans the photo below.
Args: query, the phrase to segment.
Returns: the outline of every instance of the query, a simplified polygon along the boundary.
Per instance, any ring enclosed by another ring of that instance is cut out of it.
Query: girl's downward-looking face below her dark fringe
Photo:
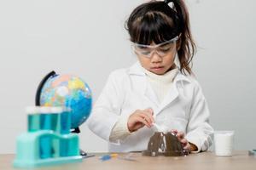
[[[152,42],[150,45],[155,46],[155,43]],[[161,53],[161,51],[163,51],[163,53]],[[177,45],[176,42],[172,42],[165,47],[156,48],[152,50],[151,54],[147,57],[143,55],[143,53],[137,53],[137,51],[135,51],[135,53],[145,69],[154,74],[163,75],[166,71],[169,71],[174,64]]]

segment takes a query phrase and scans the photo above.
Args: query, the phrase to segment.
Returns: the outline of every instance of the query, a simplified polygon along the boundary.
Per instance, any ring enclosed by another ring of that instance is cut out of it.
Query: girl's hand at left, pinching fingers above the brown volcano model
[[[154,122],[153,110],[148,108],[146,110],[137,110],[129,116],[127,127],[129,131],[135,132],[138,129],[144,127],[145,125],[150,128]]]

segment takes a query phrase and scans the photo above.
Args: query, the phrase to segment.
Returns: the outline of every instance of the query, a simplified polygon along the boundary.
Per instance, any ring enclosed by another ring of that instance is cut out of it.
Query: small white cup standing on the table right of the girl
[[[216,156],[232,156],[234,131],[215,131],[214,145]]]

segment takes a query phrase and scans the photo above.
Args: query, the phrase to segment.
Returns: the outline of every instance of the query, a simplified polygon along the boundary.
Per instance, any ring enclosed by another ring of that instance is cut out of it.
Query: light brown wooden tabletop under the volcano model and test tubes
[[[108,161],[101,161],[100,156],[104,154],[96,154],[96,156],[84,159],[79,163],[61,164],[54,167],[38,167],[30,169],[47,169],[47,170],[211,170],[211,169],[225,169],[225,170],[253,170],[256,169],[256,157],[248,156],[248,152],[235,151],[231,157],[218,157],[212,152],[202,152],[198,154],[190,154],[185,157],[165,157],[165,156],[142,156],[141,153],[130,154],[135,161],[127,161],[120,159],[128,154],[119,154],[118,157],[112,158]],[[12,166],[12,161],[15,155],[6,154],[0,155],[0,170],[17,169]],[[20,169],[20,168],[18,168]],[[27,168],[28,169],[28,168]]]

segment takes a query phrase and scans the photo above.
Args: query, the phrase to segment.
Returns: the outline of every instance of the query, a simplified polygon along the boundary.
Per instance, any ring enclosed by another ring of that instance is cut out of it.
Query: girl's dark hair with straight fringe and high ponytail
[[[172,7],[168,4],[171,2]],[[192,74],[191,61],[196,47],[190,31],[189,13],[183,0],[143,3],[132,11],[125,28],[129,31],[131,42],[146,45],[165,42],[178,36],[180,71]]]

